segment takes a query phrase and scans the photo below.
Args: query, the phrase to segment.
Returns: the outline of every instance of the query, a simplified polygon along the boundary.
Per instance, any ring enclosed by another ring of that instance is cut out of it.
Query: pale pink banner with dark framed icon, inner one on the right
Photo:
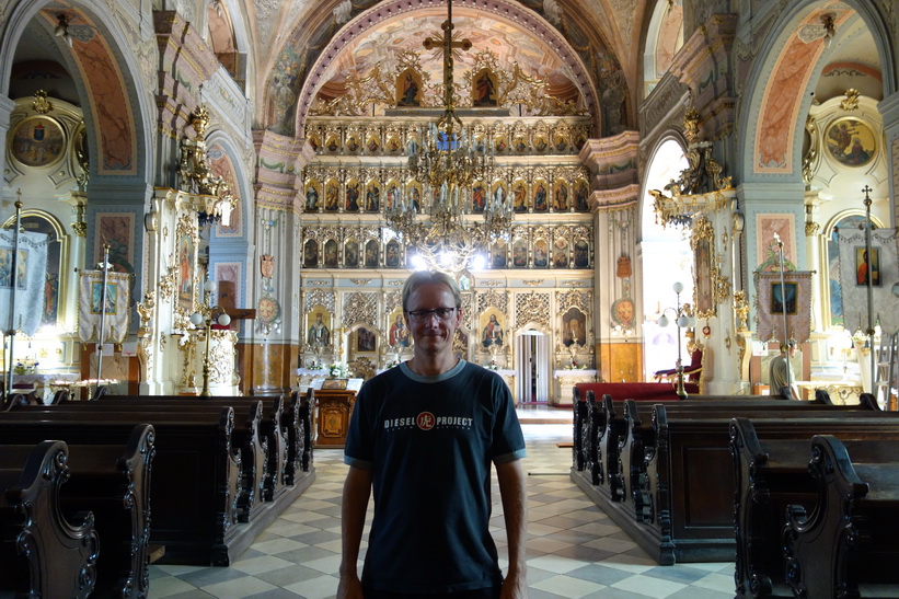
[[[810,270],[756,272],[756,335],[760,341],[805,343],[811,336]]]

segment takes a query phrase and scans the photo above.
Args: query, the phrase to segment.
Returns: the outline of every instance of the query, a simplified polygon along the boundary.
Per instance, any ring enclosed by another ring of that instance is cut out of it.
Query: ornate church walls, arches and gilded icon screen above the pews
[[[899,408],[892,0],[10,0],[0,56],[5,391],[353,390],[431,268],[522,408],[782,345]]]

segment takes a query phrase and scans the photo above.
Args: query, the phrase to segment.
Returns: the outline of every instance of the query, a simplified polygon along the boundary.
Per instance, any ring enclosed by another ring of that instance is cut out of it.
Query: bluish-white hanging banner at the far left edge
[[[21,331],[32,336],[41,326],[47,286],[47,235],[44,233],[19,233],[16,273],[13,277],[12,255],[15,251],[15,231],[0,230],[0,326],[4,331],[10,324],[13,278],[15,279],[13,331]]]

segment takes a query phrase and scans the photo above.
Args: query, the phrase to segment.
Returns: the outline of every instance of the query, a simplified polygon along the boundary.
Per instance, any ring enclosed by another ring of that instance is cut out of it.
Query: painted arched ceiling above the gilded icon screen
[[[630,120],[642,15],[655,1],[454,0],[456,31],[474,43],[472,51],[460,57],[459,69],[470,68],[477,51],[491,49],[503,68],[511,70],[517,61],[528,74],[548,77],[551,93],[580,95],[596,114],[602,90],[623,87],[616,96],[629,104],[623,114]],[[292,135],[293,119],[304,120],[320,90],[331,95],[347,77],[376,64],[384,72],[385,64],[395,62],[403,50],[420,53],[425,70],[439,81],[439,57],[422,51],[420,43],[439,33],[443,0],[297,0],[266,16],[277,24],[262,36],[266,47],[258,48],[257,89],[265,90],[265,100],[257,103],[256,118],[265,127],[280,120],[273,130]],[[296,116],[285,112],[284,100],[290,95],[298,103]]]

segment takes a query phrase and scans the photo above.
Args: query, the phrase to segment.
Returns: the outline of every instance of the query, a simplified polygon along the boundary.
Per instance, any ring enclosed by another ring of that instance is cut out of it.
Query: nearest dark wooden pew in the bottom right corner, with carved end
[[[848,448],[811,439],[817,505],[786,511],[787,583],[796,597],[899,596],[899,441]]]

